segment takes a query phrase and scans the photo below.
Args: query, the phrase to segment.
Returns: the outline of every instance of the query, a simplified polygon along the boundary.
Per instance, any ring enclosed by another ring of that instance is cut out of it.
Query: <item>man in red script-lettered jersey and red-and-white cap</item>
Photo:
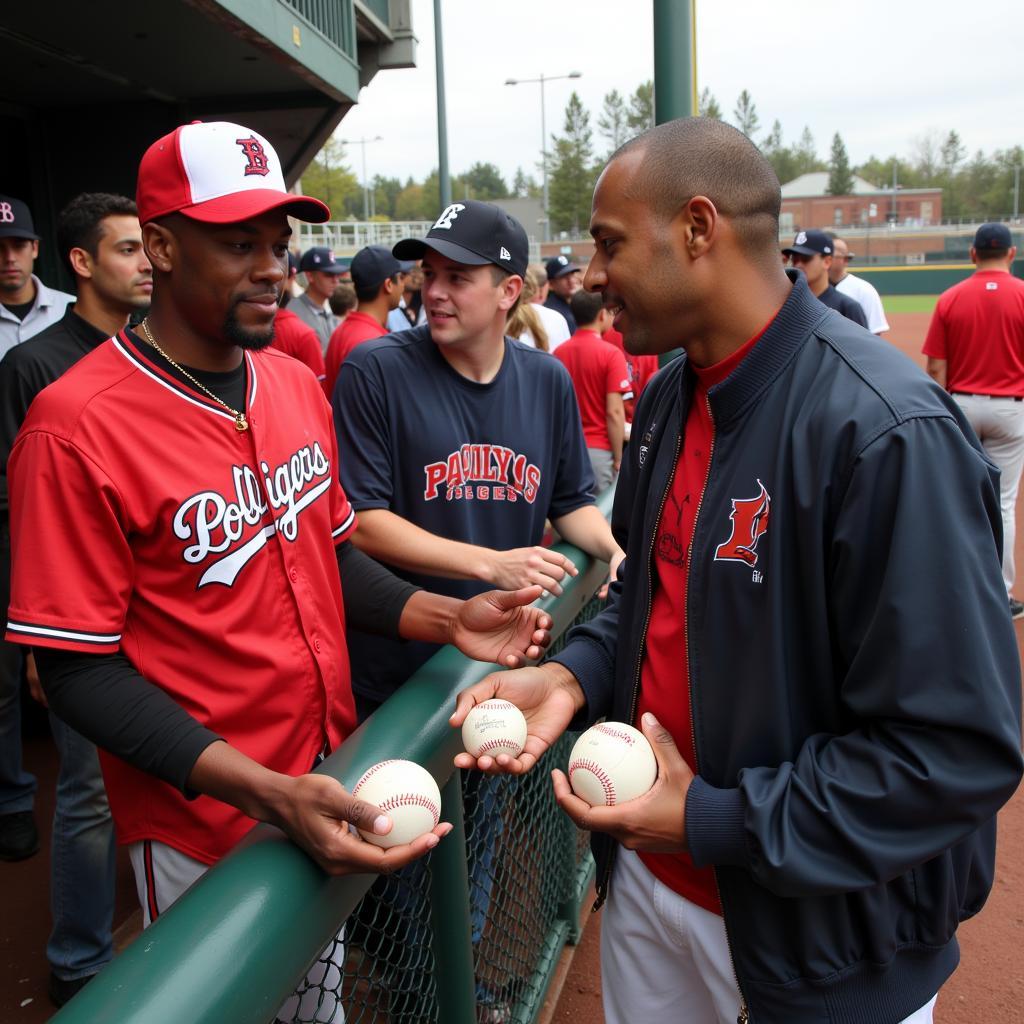
[[[346,616],[505,664],[539,655],[550,623],[524,607],[540,588],[460,602],[347,543],[331,411],[266,347],[288,215],[329,211],[285,190],[269,143],[178,128],[143,157],[137,201],[151,313],[48,388],[12,451],[7,638],[103,751],[148,923],[253,819],[332,873],[393,869],[446,835],[380,850],[348,822],[387,817],[308,774],[354,724]]]

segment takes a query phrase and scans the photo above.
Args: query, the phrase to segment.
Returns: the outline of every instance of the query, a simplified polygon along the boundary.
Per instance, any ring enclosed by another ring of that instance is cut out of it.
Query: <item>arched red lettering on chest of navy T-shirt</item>
[[[501,444],[463,444],[442,462],[423,467],[423,500],[537,501],[541,468]]]

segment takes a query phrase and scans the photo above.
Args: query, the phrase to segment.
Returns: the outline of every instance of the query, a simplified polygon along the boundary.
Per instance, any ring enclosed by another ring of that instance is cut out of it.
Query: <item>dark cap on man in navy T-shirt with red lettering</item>
[[[398,259],[415,260],[422,259],[428,249],[467,266],[494,263],[520,278],[529,260],[529,241],[519,221],[490,203],[473,199],[453,203],[426,238],[402,239],[391,252]]]

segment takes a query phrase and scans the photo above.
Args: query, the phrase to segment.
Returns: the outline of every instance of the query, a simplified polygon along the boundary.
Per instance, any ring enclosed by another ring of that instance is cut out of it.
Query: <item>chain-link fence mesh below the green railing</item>
[[[575,622],[602,604],[592,598]],[[477,1024],[535,1020],[552,958],[573,934],[592,860],[588,836],[555,803],[550,773],[565,768],[577,735],[562,736],[526,775],[463,773]],[[374,883],[343,942],[329,943],[298,999],[286,1005],[295,1010],[289,1024],[444,1024],[431,924],[434,856]]]

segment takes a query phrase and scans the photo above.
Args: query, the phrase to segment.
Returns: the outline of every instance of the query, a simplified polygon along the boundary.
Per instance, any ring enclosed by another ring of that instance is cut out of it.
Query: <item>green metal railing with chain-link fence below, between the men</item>
[[[605,515],[611,497],[598,501]],[[606,572],[558,550],[580,574],[545,599],[553,650],[599,610]],[[297,991],[293,1021],[340,1021],[339,1006],[347,1024],[536,1020],[562,947],[579,937],[593,861],[551,794],[549,769],[564,768],[573,736],[524,776],[453,767],[455,697],[490,671],[445,647],[317,769],[350,788],[384,758],[426,767],[455,825],[427,857],[387,879],[331,879],[259,825],[54,1020],[267,1024]]]

